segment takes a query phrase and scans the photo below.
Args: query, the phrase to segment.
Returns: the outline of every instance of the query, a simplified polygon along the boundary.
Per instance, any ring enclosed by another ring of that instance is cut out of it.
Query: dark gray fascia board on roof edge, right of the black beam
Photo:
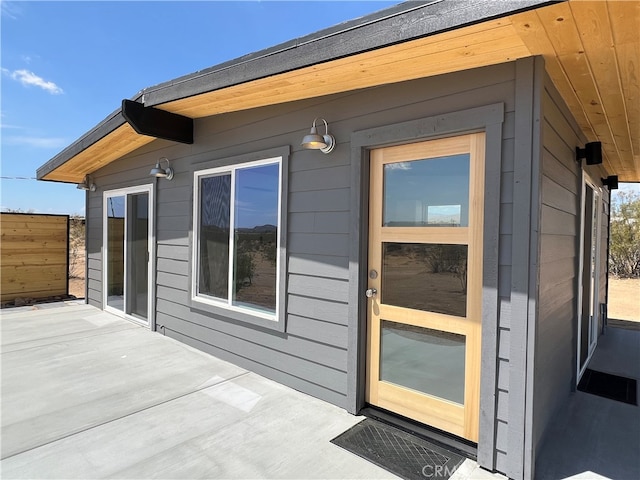
[[[557,0],[501,2],[436,0],[425,2],[409,10],[403,4],[402,8],[395,13],[383,11],[386,17],[373,19],[365,17],[355,21],[356,24],[353,26],[350,23],[339,25],[338,27],[341,28],[334,28],[333,31],[321,31],[318,34],[243,57],[230,64],[222,64],[151,87],[144,92],[144,102],[145,105],[150,106],[167,104],[283,72],[461,29],[467,25],[483,23],[551,3],[557,3]],[[362,21],[365,23],[359,23]],[[337,36],[339,41],[336,41]]]

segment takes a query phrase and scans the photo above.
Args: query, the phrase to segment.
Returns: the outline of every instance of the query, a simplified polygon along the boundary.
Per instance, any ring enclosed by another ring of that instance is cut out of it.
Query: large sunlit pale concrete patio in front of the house
[[[362,417],[81,302],[0,325],[2,478],[397,478],[330,443]]]

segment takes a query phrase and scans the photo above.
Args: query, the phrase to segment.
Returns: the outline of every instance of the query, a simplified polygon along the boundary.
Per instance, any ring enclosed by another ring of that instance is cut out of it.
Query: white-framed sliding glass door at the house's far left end
[[[106,192],[105,304],[149,323],[150,187]]]

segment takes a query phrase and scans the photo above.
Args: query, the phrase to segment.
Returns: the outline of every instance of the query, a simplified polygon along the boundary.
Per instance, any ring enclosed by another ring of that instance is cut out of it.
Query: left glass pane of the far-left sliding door
[[[107,305],[124,311],[125,197],[107,197]]]

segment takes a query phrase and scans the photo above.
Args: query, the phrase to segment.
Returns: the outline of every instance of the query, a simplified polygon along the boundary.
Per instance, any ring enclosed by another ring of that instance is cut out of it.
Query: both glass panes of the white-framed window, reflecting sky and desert
[[[275,313],[279,188],[279,163],[200,180],[198,293]]]

